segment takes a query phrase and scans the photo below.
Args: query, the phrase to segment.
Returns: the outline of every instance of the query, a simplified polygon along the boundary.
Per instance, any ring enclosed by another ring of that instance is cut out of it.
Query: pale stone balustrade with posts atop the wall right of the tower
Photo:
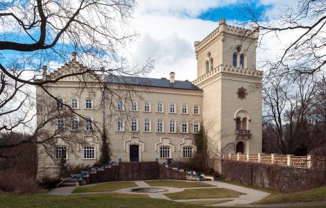
[[[277,154],[223,154],[223,159],[243,162],[257,162],[264,164],[277,164],[280,166],[293,166],[297,168],[325,168],[326,157],[277,155]]]

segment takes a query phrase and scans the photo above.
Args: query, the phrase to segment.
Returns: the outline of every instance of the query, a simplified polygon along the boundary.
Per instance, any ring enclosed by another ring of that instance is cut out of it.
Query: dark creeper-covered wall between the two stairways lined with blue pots
[[[90,173],[83,184],[157,179],[186,180],[186,173],[160,166],[158,162],[120,162],[116,166],[104,168],[103,171]]]

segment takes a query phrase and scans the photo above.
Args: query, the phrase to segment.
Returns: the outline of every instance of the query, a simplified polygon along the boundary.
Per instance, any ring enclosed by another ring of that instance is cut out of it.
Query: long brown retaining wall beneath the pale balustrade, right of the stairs
[[[302,191],[326,185],[326,172],[322,169],[223,160],[222,174],[231,182],[278,191]]]

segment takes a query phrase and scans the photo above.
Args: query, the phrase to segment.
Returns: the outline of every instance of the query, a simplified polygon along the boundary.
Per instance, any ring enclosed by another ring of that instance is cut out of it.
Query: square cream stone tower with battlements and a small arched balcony
[[[203,125],[216,153],[261,153],[261,78],[256,70],[259,31],[225,19],[195,42],[197,79],[203,89]]]

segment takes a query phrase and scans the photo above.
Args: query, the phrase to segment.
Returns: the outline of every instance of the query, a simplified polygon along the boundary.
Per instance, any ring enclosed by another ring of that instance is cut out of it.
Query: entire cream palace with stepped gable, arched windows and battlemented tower
[[[192,82],[176,80],[178,74],[173,72],[166,79],[118,76],[110,71],[101,75],[102,83],[69,76],[46,85],[46,91],[60,101],[54,104],[55,99],[46,99],[44,89],[37,87],[37,123],[58,114],[37,135],[43,140],[55,135],[48,146],[38,148],[40,175],[58,169],[56,161],[62,157],[69,164],[94,164],[100,157],[104,130],[115,161],[192,157],[194,134],[201,125],[216,168],[220,168],[221,153],[261,153],[258,35],[254,29],[229,26],[221,19],[218,28],[194,43],[197,78]],[[73,53],[60,69],[50,74],[44,70],[43,79],[53,80],[80,67],[84,66]],[[76,113],[69,113],[70,108]]]

